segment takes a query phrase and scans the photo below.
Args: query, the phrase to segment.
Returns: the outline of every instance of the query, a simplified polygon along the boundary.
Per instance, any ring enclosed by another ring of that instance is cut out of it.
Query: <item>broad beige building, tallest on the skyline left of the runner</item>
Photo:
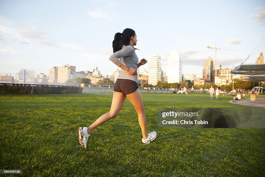
[[[58,83],[65,83],[69,79],[74,79],[75,72],[75,66],[64,65],[58,68]]]

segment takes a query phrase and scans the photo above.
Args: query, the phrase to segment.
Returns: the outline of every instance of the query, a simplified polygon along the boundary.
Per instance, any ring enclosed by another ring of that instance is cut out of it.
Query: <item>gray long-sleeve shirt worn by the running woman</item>
[[[135,53],[135,49],[131,45],[127,45],[121,50],[112,54],[109,57],[109,60],[112,61],[117,66],[121,66],[121,64],[124,64],[128,68],[134,68],[135,70],[137,70],[137,63],[139,61]],[[137,76],[130,75],[123,69],[121,69],[121,73],[117,79],[130,79],[137,82]]]

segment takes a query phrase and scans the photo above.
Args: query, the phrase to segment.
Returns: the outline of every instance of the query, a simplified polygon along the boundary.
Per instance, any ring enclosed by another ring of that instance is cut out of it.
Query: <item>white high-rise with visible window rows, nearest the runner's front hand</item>
[[[159,55],[153,54],[149,59],[148,84],[156,85],[157,81],[162,81],[161,58]]]

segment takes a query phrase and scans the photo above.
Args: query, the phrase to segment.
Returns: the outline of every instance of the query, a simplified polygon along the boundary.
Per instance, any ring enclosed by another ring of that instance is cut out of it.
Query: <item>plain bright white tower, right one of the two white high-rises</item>
[[[182,81],[182,60],[178,51],[171,51],[168,57],[167,82],[179,83]]]

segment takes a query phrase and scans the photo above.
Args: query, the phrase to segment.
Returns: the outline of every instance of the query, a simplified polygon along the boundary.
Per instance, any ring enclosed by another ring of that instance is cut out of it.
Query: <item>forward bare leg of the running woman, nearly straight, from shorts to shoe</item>
[[[137,89],[135,92],[126,95],[130,102],[133,104],[136,113],[138,114],[138,121],[142,130],[143,139],[147,138],[146,133],[146,119],[144,115],[144,105],[140,90]]]

